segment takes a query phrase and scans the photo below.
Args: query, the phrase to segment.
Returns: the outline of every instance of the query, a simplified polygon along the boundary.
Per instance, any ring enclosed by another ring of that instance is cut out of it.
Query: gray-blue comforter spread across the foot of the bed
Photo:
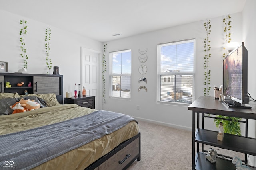
[[[95,111],[68,121],[0,136],[0,169],[31,169],[106,134],[130,121],[128,115]],[[137,122],[138,123],[138,122]]]

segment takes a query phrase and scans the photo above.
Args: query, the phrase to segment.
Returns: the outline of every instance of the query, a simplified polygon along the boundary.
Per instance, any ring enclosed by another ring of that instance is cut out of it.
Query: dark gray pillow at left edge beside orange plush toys
[[[18,98],[4,98],[0,99],[0,115],[10,115],[13,110],[10,108],[13,104],[18,102]]]

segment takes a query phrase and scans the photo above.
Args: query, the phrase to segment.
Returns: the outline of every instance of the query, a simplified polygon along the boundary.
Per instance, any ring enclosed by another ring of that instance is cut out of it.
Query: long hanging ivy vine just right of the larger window
[[[204,52],[206,53],[204,55],[204,85],[206,86],[204,88],[204,96],[208,96],[209,95],[209,92],[211,90],[211,87],[210,87],[210,81],[211,81],[211,70],[209,70],[209,59],[211,57],[211,53],[210,53],[210,50],[211,50],[211,46],[210,46],[210,39],[209,39],[209,35],[211,34],[211,27],[212,25],[210,25],[211,22],[210,20],[207,20],[205,23],[204,23],[204,28],[205,28],[205,31],[206,31],[206,38],[204,39]]]

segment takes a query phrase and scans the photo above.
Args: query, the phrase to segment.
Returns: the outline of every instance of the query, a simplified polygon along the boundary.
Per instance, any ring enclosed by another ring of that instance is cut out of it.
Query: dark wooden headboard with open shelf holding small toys
[[[6,87],[5,83],[10,82],[11,87]],[[24,82],[22,86],[18,83]],[[31,82],[31,86],[28,84]],[[63,76],[48,74],[22,74],[22,73],[0,73],[0,92],[28,94],[55,93],[57,100],[63,104]]]

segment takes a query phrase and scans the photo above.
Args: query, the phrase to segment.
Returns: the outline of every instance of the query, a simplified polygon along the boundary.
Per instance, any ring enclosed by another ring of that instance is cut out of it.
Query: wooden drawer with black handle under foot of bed
[[[127,164],[137,158],[138,154],[139,138],[135,139],[126,147],[118,151],[98,168],[99,170],[122,170]]]

